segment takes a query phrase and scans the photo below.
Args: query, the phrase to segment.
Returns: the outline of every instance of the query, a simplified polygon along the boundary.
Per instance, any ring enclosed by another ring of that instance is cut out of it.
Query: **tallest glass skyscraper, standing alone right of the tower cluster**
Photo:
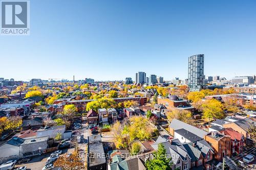
[[[188,57],[188,87],[190,91],[199,91],[204,84],[204,55]]]

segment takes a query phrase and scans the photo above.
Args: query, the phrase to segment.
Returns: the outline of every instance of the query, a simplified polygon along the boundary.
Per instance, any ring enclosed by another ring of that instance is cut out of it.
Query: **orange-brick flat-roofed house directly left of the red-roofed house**
[[[209,142],[214,149],[215,159],[222,161],[223,157],[231,155],[230,136],[218,132],[210,132],[208,135],[205,135],[204,139]]]

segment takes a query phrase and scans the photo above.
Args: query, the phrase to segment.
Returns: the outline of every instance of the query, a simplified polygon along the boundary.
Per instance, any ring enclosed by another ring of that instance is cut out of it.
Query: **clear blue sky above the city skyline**
[[[256,74],[256,1],[31,0],[30,36],[0,36],[0,77],[124,80]]]

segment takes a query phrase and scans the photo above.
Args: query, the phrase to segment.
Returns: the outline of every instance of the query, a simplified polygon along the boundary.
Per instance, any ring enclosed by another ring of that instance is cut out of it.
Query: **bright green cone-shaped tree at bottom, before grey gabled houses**
[[[168,158],[162,143],[158,144],[158,149],[153,153],[153,159],[146,161],[145,165],[150,170],[171,170],[172,158]]]

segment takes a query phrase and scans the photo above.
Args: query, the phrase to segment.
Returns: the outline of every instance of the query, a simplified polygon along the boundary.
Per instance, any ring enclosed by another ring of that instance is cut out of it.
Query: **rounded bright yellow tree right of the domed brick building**
[[[220,101],[217,101],[216,99],[206,100],[202,104],[202,110],[203,118],[208,118],[209,124],[211,120],[215,118],[221,119],[224,116],[223,104]]]

